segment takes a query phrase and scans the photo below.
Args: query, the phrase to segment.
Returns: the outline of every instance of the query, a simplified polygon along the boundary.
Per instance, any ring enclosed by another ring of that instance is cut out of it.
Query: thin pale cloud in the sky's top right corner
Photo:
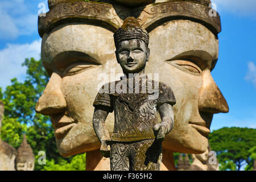
[[[256,16],[255,0],[212,0],[217,11],[229,11],[236,15]]]

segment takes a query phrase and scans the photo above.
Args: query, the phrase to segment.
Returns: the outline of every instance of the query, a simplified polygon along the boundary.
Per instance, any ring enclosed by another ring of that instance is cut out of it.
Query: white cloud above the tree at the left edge
[[[0,50],[0,86],[5,89],[10,85],[11,78],[22,78],[26,74],[26,68],[22,63],[26,58],[40,59],[42,40],[35,40],[30,44],[7,44]]]

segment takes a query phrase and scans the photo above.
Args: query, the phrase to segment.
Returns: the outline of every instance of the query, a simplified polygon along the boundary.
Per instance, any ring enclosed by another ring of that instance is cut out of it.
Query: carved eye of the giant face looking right
[[[193,61],[188,60],[173,60],[168,61],[169,64],[174,65],[176,68],[181,69],[182,71],[192,73],[193,75],[200,75],[202,70],[199,66],[196,65]]]

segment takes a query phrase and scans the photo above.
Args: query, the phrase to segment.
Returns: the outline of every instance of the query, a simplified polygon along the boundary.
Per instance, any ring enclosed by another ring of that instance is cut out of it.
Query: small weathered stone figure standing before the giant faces
[[[125,76],[102,86],[93,103],[93,127],[101,142],[101,154],[110,157],[112,171],[159,170],[162,141],[174,126],[174,93],[163,82],[143,74],[150,56],[149,36],[137,19],[126,18],[115,32],[114,42]],[[115,123],[110,137],[105,120],[113,110]]]

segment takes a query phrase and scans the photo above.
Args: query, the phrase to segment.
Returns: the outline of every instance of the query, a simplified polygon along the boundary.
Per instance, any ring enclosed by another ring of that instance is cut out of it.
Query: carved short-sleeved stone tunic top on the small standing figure
[[[148,81],[148,80],[147,80]],[[117,86],[118,82],[115,84],[110,83],[102,86],[102,89],[109,88],[108,91],[113,90],[111,86]],[[154,80],[151,81],[154,85]],[[144,139],[154,139],[153,127],[158,123],[157,108],[159,105],[168,103],[174,105],[176,103],[174,94],[171,88],[162,82],[156,83],[158,87],[150,89],[146,86],[146,92],[142,93],[142,84],[140,82],[140,92],[127,93],[102,93],[99,92],[93,103],[93,106],[97,105],[108,106],[110,112],[114,110],[115,124],[114,131],[111,136],[113,141],[118,142],[133,142],[137,140]],[[148,84],[147,84],[148,85]],[[128,86],[127,86],[128,89]],[[126,89],[125,89],[126,90]],[[152,96],[158,92],[155,99]]]

